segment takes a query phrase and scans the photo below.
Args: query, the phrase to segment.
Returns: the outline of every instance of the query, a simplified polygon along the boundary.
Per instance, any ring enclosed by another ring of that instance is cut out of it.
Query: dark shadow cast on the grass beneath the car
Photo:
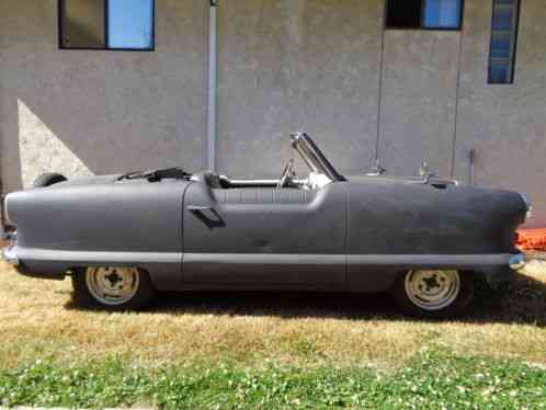
[[[81,309],[72,300],[66,308]],[[153,306],[143,312],[146,314],[422,321],[402,316],[387,294],[162,292]],[[457,321],[546,327],[546,283],[524,275],[517,275],[513,283],[501,288],[478,282],[475,303]]]

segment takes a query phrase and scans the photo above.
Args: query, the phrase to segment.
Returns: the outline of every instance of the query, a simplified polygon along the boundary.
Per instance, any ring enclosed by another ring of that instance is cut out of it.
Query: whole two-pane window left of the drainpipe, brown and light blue
[[[59,0],[64,49],[152,50],[155,0]]]

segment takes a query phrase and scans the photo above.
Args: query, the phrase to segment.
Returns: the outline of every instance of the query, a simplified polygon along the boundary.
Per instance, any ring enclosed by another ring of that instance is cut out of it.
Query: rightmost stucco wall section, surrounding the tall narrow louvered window
[[[476,150],[476,183],[517,190],[535,205],[530,226],[546,226],[546,8],[521,4],[512,86],[487,84],[490,2],[466,1],[455,175],[468,181]]]

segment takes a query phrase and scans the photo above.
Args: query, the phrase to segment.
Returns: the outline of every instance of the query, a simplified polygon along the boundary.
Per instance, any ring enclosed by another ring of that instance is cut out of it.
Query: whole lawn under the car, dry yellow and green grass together
[[[384,295],[163,294],[147,312],[105,314],[75,306],[69,281],[2,264],[0,400],[546,408],[545,324],[538,262],[445,322],[407,319]]]

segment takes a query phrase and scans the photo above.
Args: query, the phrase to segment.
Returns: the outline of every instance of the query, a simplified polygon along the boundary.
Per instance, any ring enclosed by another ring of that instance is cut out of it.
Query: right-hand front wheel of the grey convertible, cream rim
[[[409,271],[391,288],[398,306],[408,315],[450,318],[460,315],[474,298],[474,276],[459,271]]]

